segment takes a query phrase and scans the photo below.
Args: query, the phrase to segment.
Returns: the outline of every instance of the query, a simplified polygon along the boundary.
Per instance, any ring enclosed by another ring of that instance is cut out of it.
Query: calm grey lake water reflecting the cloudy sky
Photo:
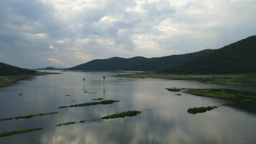
[[[191,115],[191,107],[214,106],[224,101],[168,92],[167,87],[231,88],[256,91],[255,87],[213,85],[195,81],[126,79],[103,75],[117,73],[78,73],[46,75],[0,88],[0,118],[48,113],[55,115],[0,122],[0,133],[43,127],[43,130],[0,137],[0,143],[256,143],[256,115],[232,107],[219,107]],[[83,92],[85,88],[92,93]],[[22,93],[21,97],[18,94]],[[66,94],[71,96],[65,97]],[[110,105],[59,106],[90,102],[95,98],[121,100]],[[71,101],[78,100],[75,103]],[[55,124],[100,118],[115,112],[143,111],[136,117],[85,122],[56,127]]]

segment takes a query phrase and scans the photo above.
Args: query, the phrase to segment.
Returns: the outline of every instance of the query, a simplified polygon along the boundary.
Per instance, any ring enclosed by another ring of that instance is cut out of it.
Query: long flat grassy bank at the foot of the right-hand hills
[[[235,85],[256,85],[256,75],[165,75],[155,74],[153,72],[119,74],[116,77],[129,78],[152,78],[152,79],[170,79],[170,80],[189,80],[200,81],[204,83],[228,83]]]

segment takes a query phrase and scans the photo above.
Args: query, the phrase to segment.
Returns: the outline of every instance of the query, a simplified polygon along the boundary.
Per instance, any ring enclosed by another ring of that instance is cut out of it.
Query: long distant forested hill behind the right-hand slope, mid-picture
[[[90,62],[69,68],[69,70],[161,70],[172,65],[183,64],[200,58],[214,50],[203,50],[185,55],[172,55],[166,57],[133,57],[120,58],[112,57],[108,59],[95,59]]]

